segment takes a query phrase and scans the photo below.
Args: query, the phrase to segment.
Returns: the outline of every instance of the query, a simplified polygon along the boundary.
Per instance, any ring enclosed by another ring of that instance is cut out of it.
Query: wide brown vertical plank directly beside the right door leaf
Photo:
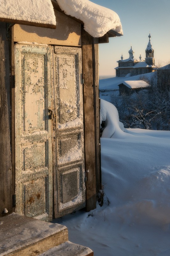
[[[97,76],[98,67],[98,46],[94,44],[95,39],[92,38],[84,29],[82,29],[82,60],[83,60],[83,77],[84,77],[84,129],[85,129],[85,170],[86,172],[86,211],[96,208],[96,166],[99,161],[96,155],[96,150],[99,145],[96,145],[96,127],[99,126],[98,120],[99,106],[94,101],[97,94]],[[97,116],[97,118],[96,118]],[[98,140],[99,142],[99,140]],[[98,152],[99,153],[99,152]],[[97,175],[98,176],[98,175]],[[99,177],[97,177],[99,182]]]

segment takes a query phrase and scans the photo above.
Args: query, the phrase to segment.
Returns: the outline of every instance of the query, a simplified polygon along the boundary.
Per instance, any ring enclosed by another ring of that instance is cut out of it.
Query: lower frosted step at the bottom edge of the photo
[[[93,256],[93,252],[88,247],[73,244],[69,241],[43,252],[39,256]]]

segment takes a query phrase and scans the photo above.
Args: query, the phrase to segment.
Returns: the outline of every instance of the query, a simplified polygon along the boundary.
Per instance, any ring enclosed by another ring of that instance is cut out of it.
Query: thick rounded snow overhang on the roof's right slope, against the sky
[[[92,37],[102,37],[110,29],[123,35],[118,14],[89,0],[56,0],[60,8],[84,22],[84,29]]]

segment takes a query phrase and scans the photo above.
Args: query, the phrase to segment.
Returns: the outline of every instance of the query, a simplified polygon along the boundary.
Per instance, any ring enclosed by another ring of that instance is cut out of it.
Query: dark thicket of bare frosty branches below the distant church
[[[162,72],[158,79],[157,72],[150,80],[145,80],[150,87],[132,95],[113,95],[111,102],[116,106],[119,119],[125,128],[144,128],[170,130],[170,74]]]

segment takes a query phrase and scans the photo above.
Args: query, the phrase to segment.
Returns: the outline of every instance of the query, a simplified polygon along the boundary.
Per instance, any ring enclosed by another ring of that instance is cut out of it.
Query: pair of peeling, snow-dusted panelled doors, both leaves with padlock
[[[16,213],[51,220],[85,207],[81,56],[15,45]]]

